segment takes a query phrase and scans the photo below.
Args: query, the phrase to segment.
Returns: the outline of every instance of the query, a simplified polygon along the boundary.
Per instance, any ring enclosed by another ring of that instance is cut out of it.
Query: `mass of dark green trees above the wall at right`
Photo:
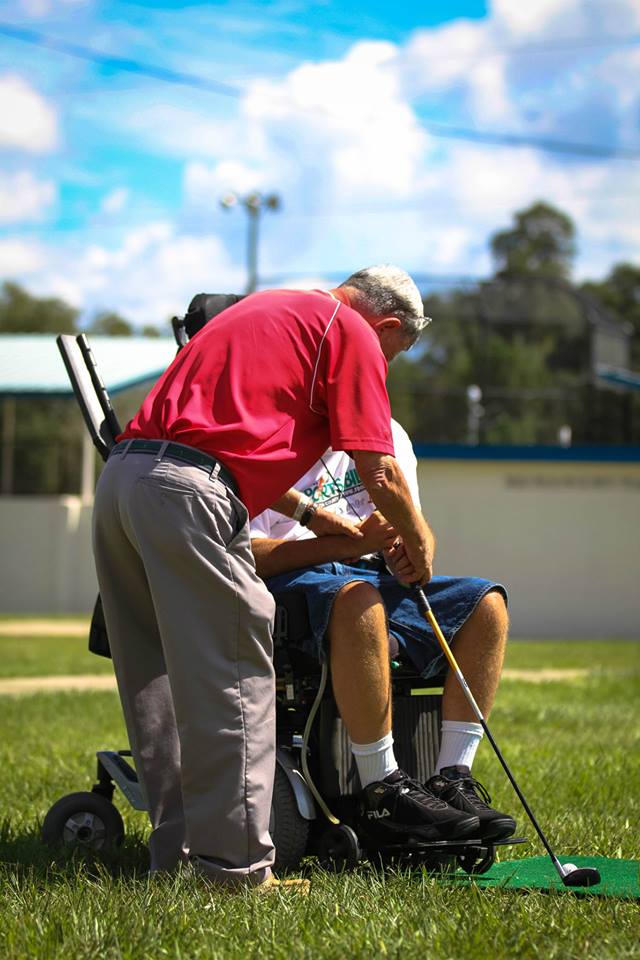
[[[544,203],[517,212],[491,250],[493,278],[425,300],[434,323],[414,387],[415,439],[474,439],[473,384],[481,442],[553,444],[565,424],[577,443],[640,441],[637,398],[599,388],[591,369],[593,332],[616,317],[634,323],[640,366],[640,270],[623,264],[602,284],[575,287],[573,224]]]

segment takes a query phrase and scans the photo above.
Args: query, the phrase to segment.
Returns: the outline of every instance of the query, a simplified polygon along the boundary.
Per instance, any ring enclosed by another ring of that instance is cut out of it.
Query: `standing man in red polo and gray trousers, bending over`
[[[248,518],[276,502],[292,512],[296,495],[278,498],[329,445],[348,450],[413,580],[430,578],[385,387],[425,322],[413,281],[389,266],[329,293],[247,297],[178,354],[107,462],[94,552],[152,870],[189,856],[222,884],[270,879],[274,605]]]

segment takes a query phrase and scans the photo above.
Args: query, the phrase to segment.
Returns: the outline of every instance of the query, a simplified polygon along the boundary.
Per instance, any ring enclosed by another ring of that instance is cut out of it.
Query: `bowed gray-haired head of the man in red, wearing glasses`
[[[340,284],[355,290],[351,303],[374,319],[396,317],[403,331],[414,340],[430,322],[424,315],[420,291],[409,274],[390,263],[365,267]]]

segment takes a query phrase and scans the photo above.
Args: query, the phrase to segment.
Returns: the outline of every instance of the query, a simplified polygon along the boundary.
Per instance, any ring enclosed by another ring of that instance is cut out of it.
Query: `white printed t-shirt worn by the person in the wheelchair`
[[[396,460],[404,473],[411,496],[420,510],[418,493],[418,461],[407,432],[395,420],[391,421]],[[355,464],[344,451],[327,450],[325,455],[295,484],[295,489],[306,494],[323,510],[339,513],[357,523],[366,520],[375,507],[358,476]],[[306,540],[315,536],[297,520],[285,517],[275,510],[264,510],[251,521],[251,536],[272,540]]]

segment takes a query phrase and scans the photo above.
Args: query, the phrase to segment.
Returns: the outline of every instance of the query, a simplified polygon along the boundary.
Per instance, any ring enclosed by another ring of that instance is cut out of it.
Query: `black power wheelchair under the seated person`
[[[185,317],[174,318],[178,347],[238,299],[233,295],[195,297]],[[60,335],[57,344],[86,426],[106,460],[121,429],[89,342],[84,334]],[[316,856],[333,869],[353,868],[363,858],[428,869],[460,866],[468,873],[489,869],[500,841],[407,841],[385,847],[368,839],[357,812],[357,768],[328,682],[327,665],[321,666],[300,649],[309,631],[306,599],[301,593],[275,599],[277,743],[270,829],[276,869],[295,869],[307,856]],[[396,755],[409,776],[424,782],[434,770],[440,745],[444,677],[424,681],[394,644],[390,640]],[[89,649],[110,656],[100,597],[91,621]],[[121,843],[124,825],[112,802],[116,786],[136,810],[146,809],[129,762],[131,751],[101,750],[96,757],[97,777],[91,790],[62,797],[46,814],[45,842],[94,851]]]

